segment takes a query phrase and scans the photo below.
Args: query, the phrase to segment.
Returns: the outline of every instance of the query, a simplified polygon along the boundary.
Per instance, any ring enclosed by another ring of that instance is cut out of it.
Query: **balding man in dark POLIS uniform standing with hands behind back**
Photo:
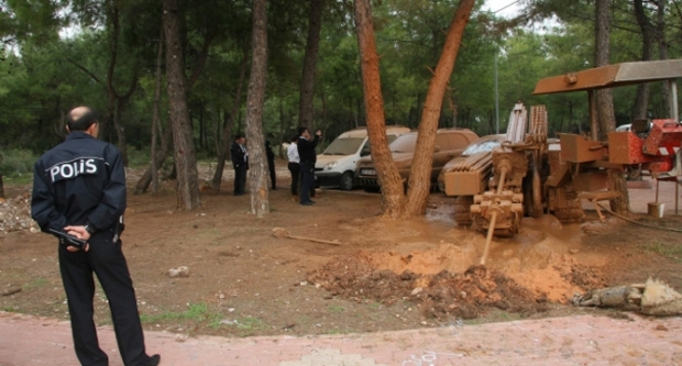
[[[62,281],[68,299],[76,355],[84,366],[107,366],[92,320],[97,275],[111,309],[125,366],[156,366],[144,347],[135,290],[119,235],[125,211],[125,170],[119,151],[97,140],[97,113],[78,107],[67,115],[66,141],[35,163],[31,215],[44,232],[87,241],[82,249],[61,240]]]

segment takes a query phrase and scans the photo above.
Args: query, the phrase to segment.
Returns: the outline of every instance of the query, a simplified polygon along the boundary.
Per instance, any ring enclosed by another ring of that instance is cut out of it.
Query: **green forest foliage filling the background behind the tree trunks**
[[[458,3],[394,0],[374,4],[387,124],[417,127]],[[476,2],[443,100],[440,126],[469,127],[480,135],[495,133],[495,69],[502,131],[519,100],[548,106],[550,133],[576,132],[588,124],[583,95],[531,93],[540,78],[592,67],[594,2],[520,3],[517,19],[502,19]],[[642,4],[640,13],[637,3]],[[661,5],[667,5],[662,13]],[[682,1],[613,0],[609,7],[610,63],[642,59],[647,36],[653,59],[681,57]],[[649,27],[641,26],[641,12]],[[231,133],[245,130],[246,88],[238,86],[250,60],[251,13],[250,1],[178,1],[191,137],[199,158],[219,155],[221,133],[230,118]],[[271,141],[287,141],[299,124],[308,15],[308,1],[267,1],[263,131]],[[161,29],[158,2],[0,0],[0,149],[23,147],[41,153],[50,148],[64,136],[64,114],[88,104],[102,115],[100,137],[124,148],[148,151]],[[160,66],[165,78],[166,66]],[[326,143],[365,125],[352,3],[326,2],[316,70],[312,126],[324,131]],[[161,85],[165,88],[165,82]],[[617,124],[631,120],[636,91],[614,90]],[[660,91],[660,85],[651,86],[647,111],[654,117],[666,117]],[[163,131],[168,124],[165,92],[160,106]]]

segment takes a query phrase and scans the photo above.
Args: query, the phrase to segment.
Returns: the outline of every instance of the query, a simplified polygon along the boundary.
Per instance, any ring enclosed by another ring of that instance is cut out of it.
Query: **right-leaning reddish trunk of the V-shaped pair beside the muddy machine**
[[[431,166],[433,165],[433,144],[436,130],[443,103],[446,88],[452,76],[454,63],[460,51],[460,44],[464,35],[464,29],[471,16],[471,10],[475,0],[462,0],[452,18],[443,52],[436,66],[436,73],[429,85],[426,97],[424,114],[419,123],[419,135],[415,147],[415,158],[410,169],[408,181],[407,204],[404,214],[406,217],[422,215],[429,198],[431,185]]]

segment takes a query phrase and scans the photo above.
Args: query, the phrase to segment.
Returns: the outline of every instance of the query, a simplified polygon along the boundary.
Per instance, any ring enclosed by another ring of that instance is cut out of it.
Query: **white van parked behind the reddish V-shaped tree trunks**
[[[409,132],[402,125],[387,125],[388,143],[399,135]],[[317,156],[315,164],[316,186],[339,187],[351,190],[355,186],[355,166],[362,156],[370,155],[367,127],[359,127],[339,135],[322,154]]]

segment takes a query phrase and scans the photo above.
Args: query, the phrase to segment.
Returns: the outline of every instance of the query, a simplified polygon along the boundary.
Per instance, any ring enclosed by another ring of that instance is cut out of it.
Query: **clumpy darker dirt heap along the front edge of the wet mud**
[[[472,266],[463,273],[441,270],[396,274],[372,265],[374,254],[359,252],[337,258],[308,274],[308,281],[345,299],[384,304],[409,300],[426,318],[474,319],[492,308],[517,313],[547,309],[547,299],[518,286],[499,271]]]

